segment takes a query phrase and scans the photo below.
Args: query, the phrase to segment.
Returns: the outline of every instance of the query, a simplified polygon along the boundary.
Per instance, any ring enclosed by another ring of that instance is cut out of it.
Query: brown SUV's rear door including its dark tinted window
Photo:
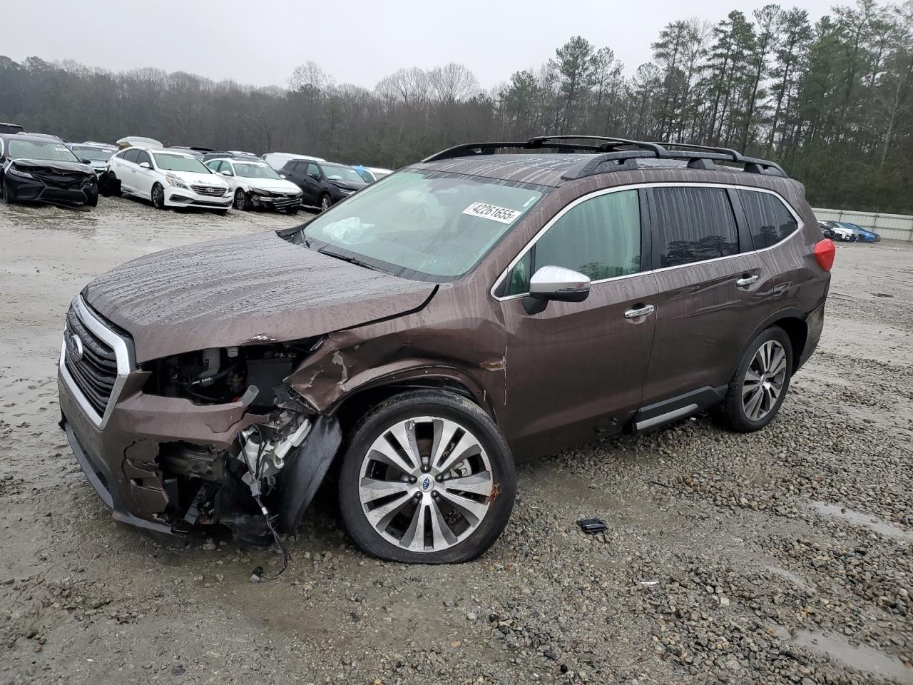
[[[763,262],[740,235],[729,193],[707,184],[647,190],[659,295],[645,405],[728,384],[763,320]]]

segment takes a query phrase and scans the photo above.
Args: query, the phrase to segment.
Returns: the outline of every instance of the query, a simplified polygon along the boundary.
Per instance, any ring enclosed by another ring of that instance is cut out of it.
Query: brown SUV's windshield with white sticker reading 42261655
[[[546,191],[539,185],[409,170],[317,216],[303,236],[322,243],[312,248],[365,258],[398,276],[452,279],[472,269]]]

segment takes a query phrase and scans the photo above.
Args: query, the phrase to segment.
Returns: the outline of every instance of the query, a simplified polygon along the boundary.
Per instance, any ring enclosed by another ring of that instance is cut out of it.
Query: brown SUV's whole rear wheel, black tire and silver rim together
[[[791,379],[790,336],[779,326],[771,326],[742,353],[739,368],[715,414],[725,426],[739,433],[761,430],[780,411]]]

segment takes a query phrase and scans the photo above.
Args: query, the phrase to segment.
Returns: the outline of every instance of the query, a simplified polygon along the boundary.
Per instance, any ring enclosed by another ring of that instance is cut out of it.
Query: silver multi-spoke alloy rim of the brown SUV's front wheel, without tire
[[[387,427],[362,459],[362,512],[389,543],[440,552],[475,532],[493,500],[491,465],[479,439],[440,416]]]

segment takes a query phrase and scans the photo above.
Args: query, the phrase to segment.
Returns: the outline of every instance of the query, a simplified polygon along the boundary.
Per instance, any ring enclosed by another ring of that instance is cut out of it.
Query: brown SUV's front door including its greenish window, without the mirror
[[[507,275],[499,301],[507,332],[504,433],[518,456],[544,454],[624,426],[642,402],[653,343],[656,279],[641,195],[619,190],[569,205]],[[530,275],[545,266],[591,279],[582,302],[527,314]]]

